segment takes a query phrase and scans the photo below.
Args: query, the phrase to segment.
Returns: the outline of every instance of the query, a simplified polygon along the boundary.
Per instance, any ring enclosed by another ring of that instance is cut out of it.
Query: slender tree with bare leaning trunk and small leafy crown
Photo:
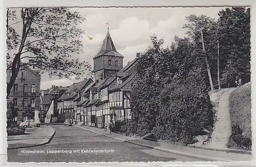
[[[187,34],[191,36],[194,40],[197,38],[198,35],[200,35],[201,38],[201,45],[202,45],[202,50],[204,54],[204,60],[205,64],[207,67],[207,73],[209,77],[209,83],[210,83],[210,88],[211,91],[214,90],[214,84],[212,82],[212,77],[211,77],[211,69],[210,69],[210,64],[209,64],[209,58],[208,58],[208,53],[206,51],[206,46],[205,46],[205,33],[208,33],[209,31],[212,30],[212,25],[214,25],[214,19],[211,19],[210,17],[207,17],[205,15],[200,15],[196,16],[195,14],[189,15],[186,17],[186,20],[188,21],[187,24],[183,25],[183,29],[188,29]]]

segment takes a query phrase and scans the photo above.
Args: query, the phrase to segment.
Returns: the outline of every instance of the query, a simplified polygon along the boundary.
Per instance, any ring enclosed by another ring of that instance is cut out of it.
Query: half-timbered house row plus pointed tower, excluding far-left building
[[[139,53],[123,67],[123,55],[116,50],[108,31],[93,58],[94,79],[41,91],[41,122],[70,119],[74,124],[103,128],[110,120],[131,119],[130,92],[137,81],[138,57]]]

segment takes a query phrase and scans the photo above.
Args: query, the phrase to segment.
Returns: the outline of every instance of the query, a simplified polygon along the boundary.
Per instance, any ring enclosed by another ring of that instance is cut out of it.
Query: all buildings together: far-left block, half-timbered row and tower
[[[23,66],[7,99],[19,108],[15,120],[27,119],[23,113],[29,103],[34,113],[31,119],[38,117],[45,123],[71,119],[73,123],[103,128],[110,120],[131,119],[130,92],[137,80],[138,57],[139,53],[123,67],[123,55],[116,50],[108,30],[100,51],[93,58],[94,79],[84,79],[69,87],[40,90],[40,74]],[[11,77],[10,66],[7,81]]]

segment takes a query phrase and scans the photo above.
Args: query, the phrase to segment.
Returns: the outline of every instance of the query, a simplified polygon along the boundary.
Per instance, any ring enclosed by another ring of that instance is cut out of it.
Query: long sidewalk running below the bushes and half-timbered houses
[[[222,151],[212,151],[199,148],[191,148],[167,143],[153,142],[142,140],[141,138],[134,138],[129,136],[124,136],[109,131],[104,131],[104,129],[99,129],[95,127],[88,126],[77,126],[85,130],[89,130],[107,137],[115,138],[126,143],[131,143],[139,146],[144,146],[147,148],[157,149],[164,152],[174,153],[182,156],[198,158],[207,161],[250,161],[252,156],[249,154],[237,154],[237,153],[227,153]]]

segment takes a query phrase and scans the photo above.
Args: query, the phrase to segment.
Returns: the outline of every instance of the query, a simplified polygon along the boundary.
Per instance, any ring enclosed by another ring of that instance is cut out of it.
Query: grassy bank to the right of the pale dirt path
[[[239,125],[243,136],[251,138],[251,82],[230,94],[229,112],[231,125]]]

